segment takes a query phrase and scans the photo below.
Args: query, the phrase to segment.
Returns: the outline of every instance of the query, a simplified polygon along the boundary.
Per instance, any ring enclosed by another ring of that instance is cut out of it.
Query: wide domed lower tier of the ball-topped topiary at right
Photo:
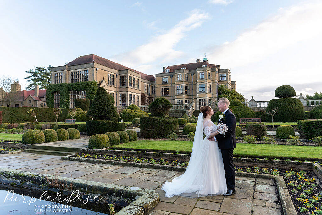
[[[304,106],[298,98],[272,99],[268,103],[267,110],[279,108],[274,115],[274,122],[296,122],[304,119]],[[266,121],[272,122],[272,117],[267,114]]]

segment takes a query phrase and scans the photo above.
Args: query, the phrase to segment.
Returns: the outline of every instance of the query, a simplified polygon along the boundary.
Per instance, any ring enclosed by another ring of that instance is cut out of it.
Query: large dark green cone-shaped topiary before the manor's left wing
[[[98,117],[102,120],[118,121],[118,114],[109,98],[109,94],[102,87],[96,91],[94,101],[87,112],[87,117]]]

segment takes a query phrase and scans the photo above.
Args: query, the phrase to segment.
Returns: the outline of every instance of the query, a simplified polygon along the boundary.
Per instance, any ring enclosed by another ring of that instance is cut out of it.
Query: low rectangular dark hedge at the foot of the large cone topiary
[[[107,120],[89,120],[86,122],[87,135],[105,134],[109,131],[125,131],[125,123]]]

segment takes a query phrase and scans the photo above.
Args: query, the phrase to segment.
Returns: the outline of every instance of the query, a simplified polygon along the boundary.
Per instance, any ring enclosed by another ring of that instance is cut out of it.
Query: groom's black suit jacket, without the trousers
[[[236,117],[229,109],[225,113],[224,120],[220,120],[220,123],[224,123],[228,126],[226,136],[223,134],[216,135],[218,141],[218,147],[220,149],[233,149],[236,148]]]

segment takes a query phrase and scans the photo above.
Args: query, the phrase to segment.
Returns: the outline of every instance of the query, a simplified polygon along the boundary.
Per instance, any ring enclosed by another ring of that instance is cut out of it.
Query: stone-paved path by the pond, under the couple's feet
[[[276,184],[268,179],[236,177],[236,194],[231,197],[166,198],[162,183],[182,173],[167,170],[93,164],[61,160],[61,156],[33,153],[0,154],[0,168],[47,173],[89,181],[136,186],[155,190],[160,203],[149,214],[282,214]],[[252,212],[253,210],[253,212]]]

